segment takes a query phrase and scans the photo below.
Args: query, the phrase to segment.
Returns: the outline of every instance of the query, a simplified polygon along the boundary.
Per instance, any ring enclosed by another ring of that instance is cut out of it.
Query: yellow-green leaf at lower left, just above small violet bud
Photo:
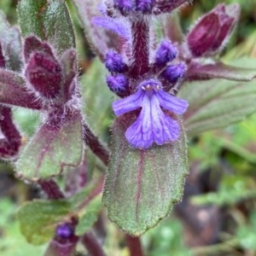
[[[22,235],[28,242],[40,245],[54,237],[58,224],[72,222],[73,218],[79,220],[77,235],[83,235],[96,222],[101,210],[101,195],[96,195],[95,189],[97,185],[91,183],[66,200],[26,203],[18,212]]]

